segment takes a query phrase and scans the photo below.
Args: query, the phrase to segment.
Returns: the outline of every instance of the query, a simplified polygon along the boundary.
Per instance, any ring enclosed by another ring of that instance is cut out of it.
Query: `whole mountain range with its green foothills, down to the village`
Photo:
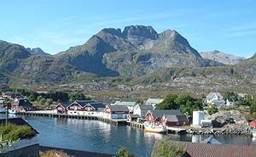
[[[256,55],[238,64],[203,59],[177,31],[151,26],[106,28],[83,45],[38,55],[0,41],[0,84],[155,96],[236,90],[256,93]],[[129,93],[130,94],[130,93]]]

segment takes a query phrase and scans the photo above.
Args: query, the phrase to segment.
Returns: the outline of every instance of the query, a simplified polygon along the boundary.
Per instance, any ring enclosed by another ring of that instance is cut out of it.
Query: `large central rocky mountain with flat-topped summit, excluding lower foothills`
[[[221,65],[202,59],[177,31],[158,34],[153,27],[144,25],[126,26],[123,31],[105,28],[56,58],[99,76],[138,77],[165,67]]]

